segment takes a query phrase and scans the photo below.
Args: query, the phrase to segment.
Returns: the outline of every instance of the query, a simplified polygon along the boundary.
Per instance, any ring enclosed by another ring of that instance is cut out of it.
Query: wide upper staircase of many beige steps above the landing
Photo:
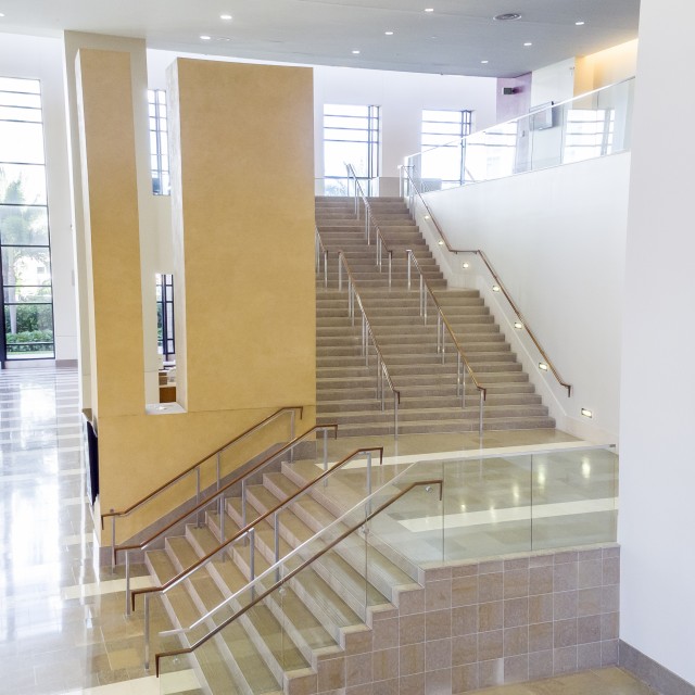
[[[339,252],[354,278],[393,386],[400,391],[399,433],[478,430],[479,392],[466,381],[466,407],[457,387],[457,355],[450,342],[442,362],[437,351],[437,316],[420,316],[419,275],[412,269],[407,285],[407,250],[412,250],[427,283],[435,293],[455,331],[479,384],[486,390],[483,428],[486,430],[554,428],[521,364],[484,305],[480,293],[448,289],[404,201],[372,198],[369,204],[386,245],[376,265],[376,233],[365,235],[364,210],[355,215],[352,198],[317,198],[316,225],[328,252],[328,287],[317,277],[317,408],[318,421],[336,421],[352,435],[393,433],[393,396],[384,408],[375,397],[377,363],[365,364],[362,317],[348,315],[346,274],[339,290]],[[323,268],[323,266],[321,266]]]

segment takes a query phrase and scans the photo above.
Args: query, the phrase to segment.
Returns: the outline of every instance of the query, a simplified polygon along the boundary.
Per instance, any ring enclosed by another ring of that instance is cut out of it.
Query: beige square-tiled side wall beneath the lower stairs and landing
[[[614,666],[619,563],[610,544],[422,570],[292,692],[456,694]]]

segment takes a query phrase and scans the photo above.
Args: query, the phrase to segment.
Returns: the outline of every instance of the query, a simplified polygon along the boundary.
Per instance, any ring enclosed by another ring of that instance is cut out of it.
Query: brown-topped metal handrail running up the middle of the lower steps
[[[352,454],[349,454],[343,459],[332,465],[330,468],[327,467],[326,470],[320,476],[318,476],[311,482],[306,483],[305,485],[303,485],[302,488],[293,492],[289,497],[286,497],[285,500],[279,502],[275,507],[273,507],[271,509],[268,509],[267,511],[264,511],[256,519],[241,527],[239,531],[235,533],[235,535],[232,535],[230,539],[227,539],[226,541],[220,543],[215,549],[211,551],[205,556],[201,557],[197,563],[194,563],[184,571],[179,572],[178,574],[176,574],[176,577],[173,577],[167,582],[163,583],[161,586],[147,586],[143,589],[136,589],[135,591],[132,591],[131,592],[132,610],[135,610],[135,607],[136,607],[137,596],[138,595],[144,596],[144,621],[143,621],[144,668],[146,669],[150,668],[150,598],[153,594],[166,594],[169,590],[174,589],[175,586],[178,586],[181,582],[186,581],[187,579],[190,579],[192,574],[194,574],[201,567],[206,566],[207,563],[210,563],[210,560],[212,560],[215,556],[217,556],[220,553],[228,552],[230,549],[229,546],[236,543],[237,541],[239,541],[240,539],[244,539],[244,541],[248,540],[249,542],[249,582],[253,582],[256,578],[256,573],[255,573],[256,527],[263,521],[265,521],[266,519],[269,521],[271,520],[271,525],[274,529],[274,532],[273,532],[274,564],[277,565],[280,561],[280,525],[278,519],[278,515],[280,514],[280,511],[282,511],[289,504],[298,502],[300,497],[306,494],[306,492],[308,492],[317,483],[323,482],[324,484],[327,484],[329,481],[329,477],[332,473],[334,473],[337,470],[339,470],[350,462],[354,460],[361,454],[366,454],[367,456],[366,491],[367,491],[367,497],[370,497],[372,492],[371,490],[372,488],[371,455],[374,452],[379,453],[379,465],[383,464],[383,446],[371,446],[371,447],[363,447],[363,448],[355,450],[354,452],[352,452]],[[222,520],[220,520],[220,523],[222,523]],[[224,527],[220,527],[220,528],[224,528]],[[224,538],[224,534],[220,533],[220,535]],[[224,554],[223,554],[223,559],[224,559]],[[189,630],[193,630],[198,628],[200,624],[202,624],[208,618],[211,618],[214,614],[220,610],[224,606],[232,603],[238,597],[238,595],[243,593],[244,591],[245,591],[245,587],[240,589],[238,592],[235,592],[235,594],[232,594],[228,598],[225,598],[225,601],[223,601],[219,605],[208,610],[204,616],[195,620],[195,622],[190,624],[188,628],[172,630],[164,634],[175,634],[180,632],[187,632]]]

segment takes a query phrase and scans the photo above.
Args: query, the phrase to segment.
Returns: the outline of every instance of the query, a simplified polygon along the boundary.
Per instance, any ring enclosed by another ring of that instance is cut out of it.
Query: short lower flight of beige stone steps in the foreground
[[[285,462],[280,471],[265,473],[262,483],[247,489],[247,522],[276,507],[320,472],[321,468],[308,460]],[[383,476],[383,470],[379,472]],[[319,482],[311,495],[300,497],[279,516],[281,557],[359,502],[361,495],[352,485],[333,481],[333,477],[331,473],[326,488]],[[226,500],[225,510],[225,535],[229,539],[242,528],[241,498]],[[213,552],[220,542],[219,515],[208,513],[206,523],[189,525],[184,535],[168,538],[163,549],[148,552],[146,565],[155,585],[161,585]],[[317,543],[315,549],[324,543]],[[275,561],[273,516],[260,523],[254,548],[257,577]],[[378,549],[372,544],[367,570],[365,548],[362,533],[349,535],[281,590],[269,594],[199,647],[190,667],[195,671],[200,692],[244,695],[342,692],[350,680],[345,659],[365,652],[365,644],[371,645],[375,614],[393,610],[394,604],[407,601],[408,593],[421,591],[414,579],[418,576],[414,565],[394,551]],[[290,569],[300,560],[292,561]],[[237,542],[224,559],[219,554],[166,593],[163,597],[166,612],[175,629],[180,630],[241,592],[189,632],[189,643],[249,605],[252,595],[242,590],[250,581],[251,564],[251,544]],[[271,572],[265,585],[274,581]],[[167,647],[172,648],[170,639],[152,645],[154,650]],[[166,669],[167,665],[163,666]]]

